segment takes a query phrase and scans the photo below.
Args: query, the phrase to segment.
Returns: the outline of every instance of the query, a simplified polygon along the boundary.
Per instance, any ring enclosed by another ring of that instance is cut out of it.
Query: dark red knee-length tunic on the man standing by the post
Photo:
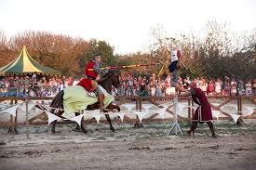
[[[210,122],[212,120],[212,113],[205,93],[200,88],[193,88],[192,98],[199,105],[195,111],[193,121],[199,123]]]

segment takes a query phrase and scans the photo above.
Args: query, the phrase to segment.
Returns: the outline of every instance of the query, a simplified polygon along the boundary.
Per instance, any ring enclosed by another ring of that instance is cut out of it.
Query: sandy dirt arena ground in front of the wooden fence
[[[238,127],[232,121],[215,123],[218,137],[199,124],[195,137],[167,136],[171,123],[88,125],[88,134],[74,124],[25,127],[20,135],[0,129],[0,169],[256,169],[256,123]],[[184,131],[187,123],[181,123]]]

